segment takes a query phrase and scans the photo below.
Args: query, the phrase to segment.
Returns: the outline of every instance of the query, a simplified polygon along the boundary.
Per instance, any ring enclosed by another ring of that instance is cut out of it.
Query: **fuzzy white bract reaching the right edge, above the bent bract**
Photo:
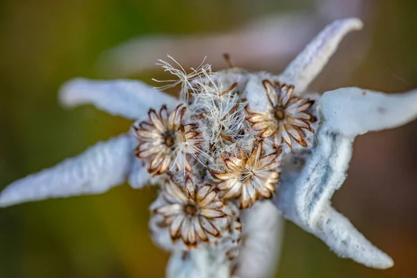
[[[414,120],[417,90],[384,94],[361,88],[340,88],[325,92],[317,106],[329,129],[354,137]]]

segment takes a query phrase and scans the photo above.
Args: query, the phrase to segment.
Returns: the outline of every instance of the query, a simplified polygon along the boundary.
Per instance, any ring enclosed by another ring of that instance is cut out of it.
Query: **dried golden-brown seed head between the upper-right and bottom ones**
[[[216,179],[222,180],[217,187],[224,191],[224,199],[240,197],[240,207],[247,208],[259,197],[272,197],[279,177],[277,167],[281,151],[261,156],[262,150],[263,140],[257,140],[250,156],[245,151],[239,156],[227,152],[222,154],[222,161],[228,172],[210,170],[210,173]]]

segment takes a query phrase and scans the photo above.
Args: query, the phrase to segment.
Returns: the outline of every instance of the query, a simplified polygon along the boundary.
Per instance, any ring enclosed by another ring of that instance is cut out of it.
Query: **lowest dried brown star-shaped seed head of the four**
[[[193,180],[186,177],[183,188],[169,179],[163,186],[163,198],[167,202],[154,213],[163,215],[162,227],[169,227],[172,241],[182,238],[188,247],[220,237],[220,231],[228,224],[230,215],[224,202],[218,199],[213,186],[202,186],[195,192]]]

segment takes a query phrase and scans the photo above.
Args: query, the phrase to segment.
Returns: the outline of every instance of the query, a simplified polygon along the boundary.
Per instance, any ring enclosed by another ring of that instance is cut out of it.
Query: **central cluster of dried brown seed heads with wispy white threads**
[[[202,63],[187,74],[179,64],[177,70],[160,63],[177,76],[163,89],[179,88],[180,103],[151,109],[148,119],[132,126],[136,156],[161,183],[152,234],[167,232],[172,245],[185,251],[227,246],[225,257],[232,260],[245,230],[240,212],[275,194],[281,156],[294,144],[308,146],[313,101],[266,76],[259,85],[268,108],[252,111],[245,101],[247,74],[240,76],[240,69],[212,72]]]

